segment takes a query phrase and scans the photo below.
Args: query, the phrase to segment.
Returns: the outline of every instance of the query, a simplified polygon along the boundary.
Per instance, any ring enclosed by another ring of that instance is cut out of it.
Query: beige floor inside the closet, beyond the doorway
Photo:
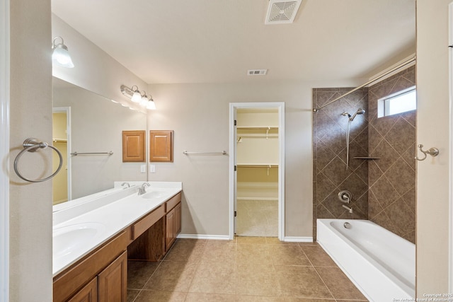
[[[238,199],[236,210],[239,236],[278,236],[278,200]]]

